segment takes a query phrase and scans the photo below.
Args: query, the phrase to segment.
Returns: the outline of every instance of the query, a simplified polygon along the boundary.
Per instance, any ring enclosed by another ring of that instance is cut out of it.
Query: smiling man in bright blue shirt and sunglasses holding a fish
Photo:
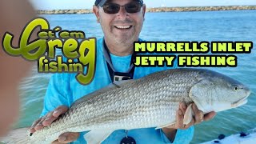
[[[146,5],[142,0],[96,0],[93,7],[97,22],[101,24],[104,38],[98,39],[97,64],[93,82],[82,86],[75,74],[54,74],[50,79],[41,118],[33,123],[30,132],[50,126],[64,114],[72,103],[86,94],[99,90],[111,82],[138,79],[167,67],[134,67],[132,64],[134,42],[142,41],[142,30]],[[174,67],[176,68],[177,63]],[[170,68],[169,68],[170,69]],[[176,123],[160,129],[115,130],[102,143],[189,143],[195,124],[210,120],[215,113],[203,114],[192,104],[194,118],[183,124],[187,106],[180,103],[176,111]],[[54,143],[85,143],[86,133],[64,133]]]

